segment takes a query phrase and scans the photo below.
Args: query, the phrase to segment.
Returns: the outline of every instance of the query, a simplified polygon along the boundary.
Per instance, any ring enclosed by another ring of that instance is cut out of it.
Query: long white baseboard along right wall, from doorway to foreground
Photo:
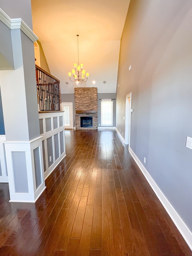
[[[176,227],[178,228],[179,232],[182,234],[183,238],[189,245],[190,249],[192,250],[192,233],[187,227],[187,225],[184,223],[182,218],[179,216],[179,214],[176,212],[176,210],[173,208],[173,206],[170,204],[170,202],[167,200],[161,189],[158,187],[158,185],[155,183],[155,181],[152,179],[146,168],[143,166],[139,158],[135,155],[133,150],[129,148],[129,152],[134,158],[135,162],[137,163],[138,167],[142,171],[143,175],[146,177],[147,181],[149,182],[149,185],[152,187],[153,191],[159,198],[160,202],[164,206],[167,213],[170,215],[171,219],[175,223]]]

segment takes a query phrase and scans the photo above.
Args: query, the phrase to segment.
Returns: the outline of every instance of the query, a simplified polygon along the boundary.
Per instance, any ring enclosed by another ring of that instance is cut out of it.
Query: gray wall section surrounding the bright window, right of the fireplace
[[[101,127],[101,100],[100,99],[115,99],[113,100],[113,127],[116,127],[116,93],[98,93],[98,127]],[[107,127],[107,125],[106,125]],[[111,126],[109,126],[110,128]]]

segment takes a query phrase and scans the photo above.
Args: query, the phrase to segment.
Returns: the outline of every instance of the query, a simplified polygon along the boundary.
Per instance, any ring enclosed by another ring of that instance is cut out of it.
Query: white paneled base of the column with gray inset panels
[[[4,141],[4,149],[7,162],[7,173],[9,177],[10,202],[32,202],[34,203],[44,191],[45,179],[43,173],[43,151],[41,137],[30,141]],[[39,148],[41,184],[36,187],[34,149]],[[18,154],[16,154],[18,153]],[[19,176],[18,158],[22,156],[22,172],[25,175],[25,184],[22,184],[22,176]],[[14,156],[14,158],[13,158]],[[23,159],[23,157],[25,159]],[[17,184],[16,184],[17,182]],[[19,184],[19,185],[18,185]],[[20,186],[20,188],[19,188]],[[17,187],[17,192],[16,192]],[[21,192],[19,192],[21,191]],[[22,192],[25,191],[25,192]]]

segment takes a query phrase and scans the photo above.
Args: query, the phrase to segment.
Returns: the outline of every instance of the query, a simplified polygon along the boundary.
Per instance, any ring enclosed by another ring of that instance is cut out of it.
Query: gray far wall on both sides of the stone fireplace
[[[98,93],[98,126],[101,124],[101,101],[99,99],[116,99],[116,93]],[[75,122],[75,95],[74,93],[61,94],[61,101],[73,102],[73,124]],[[113,100],[113,126],[116,126],[116,100]],[[109,126],[110,127],[110,126]]]

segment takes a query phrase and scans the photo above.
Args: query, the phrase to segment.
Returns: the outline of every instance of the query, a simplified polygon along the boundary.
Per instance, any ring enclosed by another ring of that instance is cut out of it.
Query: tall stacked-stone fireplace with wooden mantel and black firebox
[[[76,129],[98,129],[97,87],[75,88],[75,111]],[[84,125],[82,125],[81,120],[84,120]],[[90,120],[92,121],[92,124]]]

